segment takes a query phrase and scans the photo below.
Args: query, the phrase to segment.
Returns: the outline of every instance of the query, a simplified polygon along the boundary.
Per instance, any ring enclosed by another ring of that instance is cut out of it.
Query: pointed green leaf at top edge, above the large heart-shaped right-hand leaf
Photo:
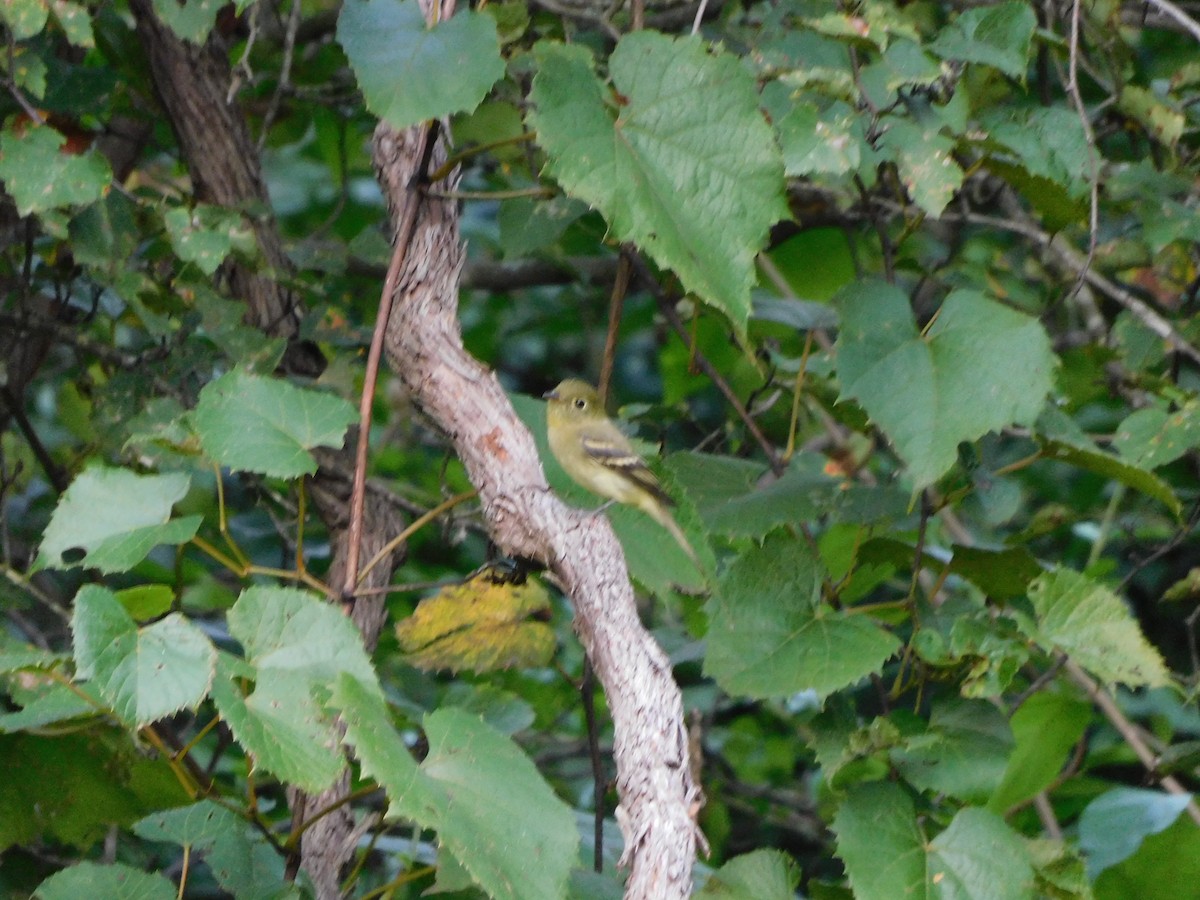
[[[977,6],[960,14],[929,48],[943,59],[982,62],[1025,80],[1037,24],[1033,10],[1020,0]]]

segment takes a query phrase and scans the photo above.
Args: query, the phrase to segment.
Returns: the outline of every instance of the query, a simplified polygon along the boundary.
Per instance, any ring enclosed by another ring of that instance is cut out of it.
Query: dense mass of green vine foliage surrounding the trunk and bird
[[[430,28],[414,0],[348,0],[336,34],[296,6],[294,56],[263,5],[240,25],[154,8],[186,40],[234,38],[330,367],[270,376],[283,343],[222,277],[228,259],[265,271],[259,211],[194,200],[126,18],[0,10],[0,889],[169,896],[151,871],[178,865],[197,890],[304,895],[284,788],[349,764],[355,810],[386,823],[348,888],[619,893],[581,863],[577,817],[606,797],[564,604],[533,576],[467,581],[485,542],[458,512],[410,539],[400,578],[466,583],[416,612],[398,590],[373,655],[319,596],[304,478],[354,419],[389,252],[373,116],[451,118],[464,337],[539,439],[522,395],[592,376],[605,343],[607,286],[583,275],[634,260],[614,386],[680,448],[660,468],[703,571],[636,511],[608,515],[698,713],[704,892],[1200,883],[1186,17],[785,0],[685,36],[653,6],[642,30],[522,0]],[[139,128],[116,182],[100,138]],[[558,275],[472,281],[528,258]],[[16,382],[22,353],[40,356]],[[468,488],[388,398],[373,474],[397,503]]]

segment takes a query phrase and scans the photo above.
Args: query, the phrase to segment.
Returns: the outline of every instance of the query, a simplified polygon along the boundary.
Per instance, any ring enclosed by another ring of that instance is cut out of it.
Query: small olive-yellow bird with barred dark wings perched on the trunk
[[[688,558],[698,565],[696,551],[670,512],[674,500],[605,413],[596,389],[578,378],[568,378],[542,397],[548,401],[546,436],[550,450],[563,470],[608,503],[624,503],[642,510],[666,528]]]

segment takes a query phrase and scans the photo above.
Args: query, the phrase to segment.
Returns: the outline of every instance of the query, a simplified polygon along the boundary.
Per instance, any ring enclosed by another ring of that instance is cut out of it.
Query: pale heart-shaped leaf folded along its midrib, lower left
[[[78,677],[133,727],[196,707],[209,692],[216,649],[178,613],[139,629],[113,592],[85,584],[71,632]]]

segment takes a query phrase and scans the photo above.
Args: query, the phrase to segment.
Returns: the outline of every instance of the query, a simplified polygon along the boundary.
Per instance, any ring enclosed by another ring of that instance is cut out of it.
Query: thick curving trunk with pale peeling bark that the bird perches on
[[[420,132],[385,124],[376,130],[374,162],[394,226],[406,204],[421,204],[388,322],[388,359],[452,442],[479,488],[497,546],[550,565],[575,604],[575,628],[613,718],[622,864],[630,868],[625,895],[689,896],[701,794],[670,661],[638,619],[624,552],[608,520],[568,508],[550,492],[533,436],[496,374],[463,349],[458,211],[452,200],[410,190],[421,162]],[[439,139],[430,170],[445,157]]]

